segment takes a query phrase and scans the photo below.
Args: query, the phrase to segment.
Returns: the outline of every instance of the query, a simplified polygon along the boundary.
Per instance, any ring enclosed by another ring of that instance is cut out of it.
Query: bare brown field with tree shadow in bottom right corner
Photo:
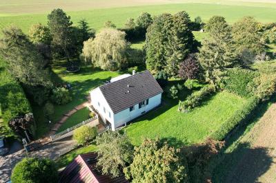
[[[226,182],[276,182],[276,103],[240,144],[249,144],[231,169]]]

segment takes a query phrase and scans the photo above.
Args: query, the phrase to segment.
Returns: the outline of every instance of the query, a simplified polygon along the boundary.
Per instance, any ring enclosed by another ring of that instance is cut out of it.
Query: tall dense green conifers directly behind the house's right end
[[[157,71],[166,69],[170,76],[175,76],[179,62],[194,48],[195,40],[188,14],[161,14],[153,19],[146,33],[147,68]]]

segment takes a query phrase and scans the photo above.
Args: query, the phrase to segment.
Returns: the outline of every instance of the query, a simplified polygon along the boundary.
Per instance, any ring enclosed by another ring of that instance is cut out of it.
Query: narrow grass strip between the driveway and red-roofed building
[[[86,147],[81,147],[79,149],[75,149],[74,151],[71,151],[70,153],[67,153],[66,155],[62,155],[59,159],[57,159],[57,166],[59,168],[62,168],[64,166],[67,166],[74,158],[77,157],[79,154],[83,153],[90,153],[97,150],[97,146],[95,144],[90,144]]]

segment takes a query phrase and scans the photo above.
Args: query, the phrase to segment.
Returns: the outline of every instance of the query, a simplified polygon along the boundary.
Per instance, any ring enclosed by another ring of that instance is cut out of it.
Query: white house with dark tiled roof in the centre
[[[149,71],[112,78],[90,92],[91,105],[112,130],[161,104],[163,89]]]

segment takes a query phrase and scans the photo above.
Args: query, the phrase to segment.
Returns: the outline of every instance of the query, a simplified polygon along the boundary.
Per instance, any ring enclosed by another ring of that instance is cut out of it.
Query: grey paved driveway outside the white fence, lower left
[[[17,162],[19,162],[21,159],[25,157],[39,157],[55,160],[56,158],[59,158],[59,154],[64,151],[64,149],[72,147],[74,144],[76,144],[75,140],[72,140],[72,138],[65,138],[63,140],[46,144],[38,151],[26,153],[26,151],[22,149],[21,151],[17,151],[16,153],[1,157],[0,182],[8,182],[12,173],[12,169],[14,168],[15,164],[17,164]]]

